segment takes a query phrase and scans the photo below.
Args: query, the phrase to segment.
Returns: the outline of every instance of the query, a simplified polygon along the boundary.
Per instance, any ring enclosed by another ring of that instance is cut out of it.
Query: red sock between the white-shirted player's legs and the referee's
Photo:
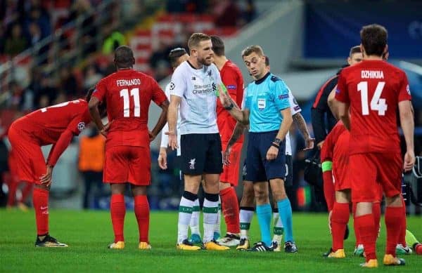
[[[238,234],[241,232],[239,222],[239,204],[234,187],[220,191],[222,211],[227,225],[227,232]]]

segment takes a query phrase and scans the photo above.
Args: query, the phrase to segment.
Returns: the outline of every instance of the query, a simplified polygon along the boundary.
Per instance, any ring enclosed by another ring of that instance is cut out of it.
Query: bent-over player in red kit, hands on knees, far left
[[[91,121],[88,100],[93,91],[94,88],[91,88],[84,99],[59,103],[27,114],[14,121],[8,130],[18,178],[20,181],[34,183],[32,203],[37,220],[35,246],[68,246],[49,234],[51,174],[73,136],[79,135]],[[41,146],[51,144],[53,147],[46,161]]]

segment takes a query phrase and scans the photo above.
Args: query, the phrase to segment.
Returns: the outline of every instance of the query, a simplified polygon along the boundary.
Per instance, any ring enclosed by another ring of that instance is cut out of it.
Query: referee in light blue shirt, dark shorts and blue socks
[[[220,100],[235,119],[249,124],[250,128],[246,180],[254,183],[257,217],[261,229],[261,241],[251,250],[273,251],[276,248],[276,242],[271,242],[271,205],[267,186],[269,181],[284,225],[284,249],[288,253],[295,253],[298,249],[293,239],[292,208],[284,188],[285,137],[293,122],[288,87],[266,68],[265,55],[260,46],[248,46],[242,51],[242,58],[250,74],[257,79],[248,85],[244,109],[239,109],[224,92],[220,92]]]

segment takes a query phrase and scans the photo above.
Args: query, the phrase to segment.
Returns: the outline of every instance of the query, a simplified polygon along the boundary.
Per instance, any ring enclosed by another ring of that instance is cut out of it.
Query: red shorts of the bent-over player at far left
[[[37,140],[31,138],[19,121],[9,128],[8,139],[13,149],[13,172],[20,181],[41,184],[39,178],[46,173],[46,161]]]

